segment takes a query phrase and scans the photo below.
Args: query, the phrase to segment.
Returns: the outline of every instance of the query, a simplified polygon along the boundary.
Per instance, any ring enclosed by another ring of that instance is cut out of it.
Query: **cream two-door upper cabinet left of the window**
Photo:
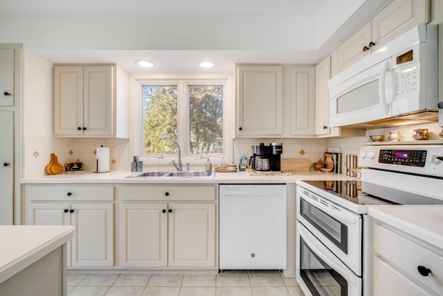
[[[68,65],[55,66],[54,75],[55,137],[128,137],[127,103],[120,103],[127,94],[116,92],[126,73],[116,65]]]

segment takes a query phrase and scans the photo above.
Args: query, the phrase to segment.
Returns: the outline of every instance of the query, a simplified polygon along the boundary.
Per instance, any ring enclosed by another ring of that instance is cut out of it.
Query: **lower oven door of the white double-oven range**
[[[307,296],[355,296],[362,280],[297,221],[296,279]]]

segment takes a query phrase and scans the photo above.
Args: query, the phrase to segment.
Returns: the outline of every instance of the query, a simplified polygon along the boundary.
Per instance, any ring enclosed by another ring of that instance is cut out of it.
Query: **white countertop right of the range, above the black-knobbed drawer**
[[[368,215],[443,249],[443,206],[372,206]]]

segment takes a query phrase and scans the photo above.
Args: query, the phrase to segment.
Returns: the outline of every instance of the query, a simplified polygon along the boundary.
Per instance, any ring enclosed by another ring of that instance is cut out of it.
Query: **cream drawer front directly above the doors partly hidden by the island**
[[[26,200],[112,201],[114,186],[27,185]]]

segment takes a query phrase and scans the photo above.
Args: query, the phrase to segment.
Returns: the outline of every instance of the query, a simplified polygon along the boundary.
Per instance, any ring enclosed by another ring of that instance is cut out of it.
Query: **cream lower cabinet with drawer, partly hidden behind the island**
[[[75,227],[74,238],[67,244],[71,268],[114,267],[114,202],[84,202],[96,193],[102,200],[114,199],[113,186],[25,188],[26,225]]]

